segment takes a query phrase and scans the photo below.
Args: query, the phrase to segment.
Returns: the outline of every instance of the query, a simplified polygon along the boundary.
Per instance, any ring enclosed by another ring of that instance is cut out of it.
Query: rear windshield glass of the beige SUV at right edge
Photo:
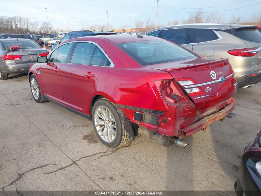
[[[240,28],[235,31],[235,36],[251,42],[261,43],[261,33],[256,28]]]

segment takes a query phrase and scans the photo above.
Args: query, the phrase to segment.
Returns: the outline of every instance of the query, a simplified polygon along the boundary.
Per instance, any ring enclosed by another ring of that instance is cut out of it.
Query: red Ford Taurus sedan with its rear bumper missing
[[[135,140],[138,128],[180,139],[204,130],[230,115],[237,91],[227,59],[141,35],[65,41],[32,64],[29,80],[36,102],[89,118],[110,148]]]

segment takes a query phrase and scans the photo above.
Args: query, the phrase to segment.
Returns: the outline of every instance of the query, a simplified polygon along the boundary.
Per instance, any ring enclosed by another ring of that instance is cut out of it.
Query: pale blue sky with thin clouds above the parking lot
[[[240,3],[238,3],[240,2]],[[204,12],[221,11],[233,8],[248,6],[260,0],[219,0],[219,1],[203,1],[203,0],[159,0],[159,21],[160,24],[166,25],[168,21],[187,19],[189,13],[196,9],[189,8],[205,8],[214,6],[228,6],[206,8]],[[236,4],[235,4],[236,3]],[[49,22],[53,24],[55,29],[62,28],[68,30],[68,22],[70,30],[79,30],[83,26],[97,23],[107,23],[107,13],[109,15],[109,23],[113,28],[120,28],[123,24],[129,24],[135,28],[136,20],[150,19],[155,22],[156,0],[42,0],[42,1],[11,1],[2,4],[0,7],[0,15],[13,16],[22,15],[28,17],[32,22],[38,21],[42,23],[47,21],[45,7],[47,7]],[[164,9],[165,7],[167,9]],[[180,9],[183,8],[183,9]],[[235,16],[242,15],[248,17],[253,12],[259,12],[261,3],[240,9],[222,11],[219,14],[224,15],[225,19],[229,19],[233,14]],[[171,11],[176,10],[176,11]],[[182,11],[182,12],[177,12]],[[147,13],[147,14],[146,14]],[[145,14],[145,15],[144,15]],[[142,16],[143,15],[143,16]],[[140,17],[141,16],[141,17]],[[139,17],[139,18],[137,18]]]

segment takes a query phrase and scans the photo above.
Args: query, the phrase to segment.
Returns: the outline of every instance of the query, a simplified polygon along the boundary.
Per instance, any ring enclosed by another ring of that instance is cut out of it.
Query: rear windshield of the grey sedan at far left
[[[7,46],[19,46],[21,49],[25,48],[40,48],[40,45],[32,40],[8,40],[2,41],[3,47],[6,50]]]

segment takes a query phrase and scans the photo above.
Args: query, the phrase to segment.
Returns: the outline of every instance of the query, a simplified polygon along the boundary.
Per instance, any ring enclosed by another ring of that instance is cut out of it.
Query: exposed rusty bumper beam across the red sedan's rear
[[[223,110],[210,116],[207,116],[186,128],[183,128],[182,130],[180,130],[180,132],[185,134],[185,137],[188,137],[200,130],[204,130],[208,127],[209,124],[212,124],[218,120],[224,120],[226,115],[230,114],[235,109],[235,105],[235,102],[231,102],[230,105],[225,107]]]

